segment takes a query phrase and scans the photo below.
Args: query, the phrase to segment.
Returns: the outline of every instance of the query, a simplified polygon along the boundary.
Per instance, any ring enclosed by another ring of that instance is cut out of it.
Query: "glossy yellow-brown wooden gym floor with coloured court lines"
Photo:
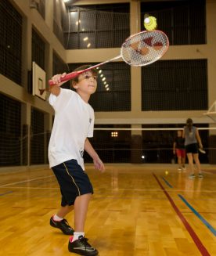
[[[100,256],[216,255],[216,167],[190,180],[176,165],[86,165],[95,194],[85,235]],[[49,226],[59,187],[49,168],[0,172],[0,255],[66,256]],[[73,226],[73,212],[67,216]]]

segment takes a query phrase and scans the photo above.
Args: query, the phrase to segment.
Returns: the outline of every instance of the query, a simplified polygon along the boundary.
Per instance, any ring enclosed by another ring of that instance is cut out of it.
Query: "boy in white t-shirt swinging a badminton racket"
[[[76,70],[84,70],[84,65]],[[88,70],[72,81],[76,92],[60,88],[64,74],[52,77],[49,103],[55,110],[55,121],[49,141],[49,165],[56,175],[62,194],[59,211],[50,219],[50,225],[70,236],[68,250],[81,255],[97,255],[85,238],[85,218],[93,193],[92,184],[85,174],[84,150],[92,157],[95,168],[104,171],[104,165],[93,149],[88,137],[93,136],[94,110],[88,99],[97,88],[97,70]],[[74,229],[70,228],[65,215],[74,208]]]

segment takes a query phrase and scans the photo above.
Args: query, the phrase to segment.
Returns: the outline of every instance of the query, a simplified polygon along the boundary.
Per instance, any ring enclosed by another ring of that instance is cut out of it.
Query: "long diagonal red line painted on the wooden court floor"
[[[163,189],[165,195],[167,196],[167,199],[170,201],[171,206],[174,208],[175,212],[177,213],[178,217],[181,219],[182,223],[185,225],[185,228],[189,232],[190,236],[192,237],[194,243],[196,243],[196,247],[199,249],[200,253],[203,256],[211,256],[209,252],[207,251],[206,247],[203,246],[203,243],[200,241],[200,238],[196,235],[191,225],[189,225],[189,222],[185,219],[184,215],[182,215],[182,212],[178,209],[176,204],[174,203],[174,200],[171,199],[171,196],[169,193],[167,193],[166,189],[164,189],[164,186],[160,183],[157,176],[153,173],[154,178],[156,178],[157,183],[159,184],[160,188]]]

